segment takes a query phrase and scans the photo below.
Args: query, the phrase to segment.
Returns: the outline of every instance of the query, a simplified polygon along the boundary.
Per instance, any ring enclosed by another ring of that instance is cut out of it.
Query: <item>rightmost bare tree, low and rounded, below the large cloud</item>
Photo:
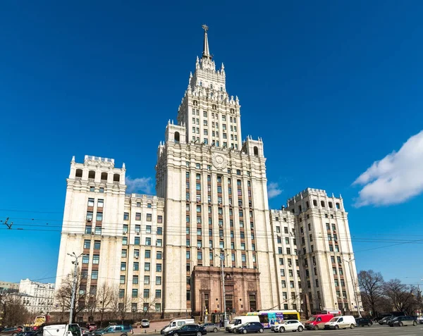
[[[396,311],[405,311],[408,314],[412,314],[417,309],[416,289],[401,283],[399,279],[392,279],[386,282],[384,292]]]

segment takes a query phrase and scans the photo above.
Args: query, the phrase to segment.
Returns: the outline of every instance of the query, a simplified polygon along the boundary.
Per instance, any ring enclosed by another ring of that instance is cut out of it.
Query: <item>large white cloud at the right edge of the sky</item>
[[[356,206],[400,204],[423,192],[423,130],[398,152],[375,161],[353,185],[362,185]]]

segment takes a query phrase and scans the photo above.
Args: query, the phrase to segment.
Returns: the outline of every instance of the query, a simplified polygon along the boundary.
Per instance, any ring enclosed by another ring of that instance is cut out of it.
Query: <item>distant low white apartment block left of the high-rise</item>
[[[19,295],[30,313],[47,314],[54,308],[54,283],[20,280]]]

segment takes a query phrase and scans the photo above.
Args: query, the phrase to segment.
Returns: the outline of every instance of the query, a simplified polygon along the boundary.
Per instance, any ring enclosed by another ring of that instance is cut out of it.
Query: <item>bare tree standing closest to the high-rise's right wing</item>
[[[384,297],[384,277],[374,270],[362,270],[358,273],[358,285],[364,310],[372,311],[374,316],[378,316],[379,304]]]

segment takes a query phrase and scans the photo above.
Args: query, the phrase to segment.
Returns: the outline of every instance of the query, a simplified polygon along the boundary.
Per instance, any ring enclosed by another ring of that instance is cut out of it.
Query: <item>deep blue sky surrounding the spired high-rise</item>
[[[125,162],[151,179],[138,192],[154,190],[207,23],[243,137],[264,140],[271,208],[306,187],[341,193],[357,269],[419,282],[392,265],[423,252],[422,13],[421,1],[1,1],[0,219],[25,230],[0,230],[0,280],[54,281],[73,155]]]

